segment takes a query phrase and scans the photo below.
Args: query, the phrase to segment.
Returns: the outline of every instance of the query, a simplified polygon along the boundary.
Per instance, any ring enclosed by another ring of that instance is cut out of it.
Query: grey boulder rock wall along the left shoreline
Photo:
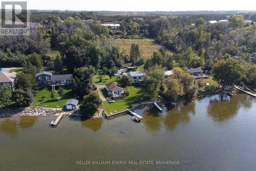
[[[48,116],[48,115],[56,115],[56,113],[60,113],[60,112],[62,112],[62,109],[59,109],[59,108],[41,108],[41,107],[1,109],[0,117],[7,117],[7,116],[13,116],[13,115]]]

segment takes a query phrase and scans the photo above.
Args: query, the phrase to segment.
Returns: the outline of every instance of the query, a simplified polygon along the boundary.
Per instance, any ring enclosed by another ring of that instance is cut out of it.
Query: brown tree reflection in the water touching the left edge
[[[18,128],[16,120],[11,120],[10,118],[5,118],[0,123],[0,130],[6,134],[10,134],[12,137],[17,137]]]

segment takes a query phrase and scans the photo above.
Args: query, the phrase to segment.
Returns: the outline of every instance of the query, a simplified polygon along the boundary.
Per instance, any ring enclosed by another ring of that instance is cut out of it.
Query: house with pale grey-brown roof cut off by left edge
[[[0,71],[0,88],[5,85],[9,85],[11,89],[14,89],[16,81],[16,73],[3,72]]]

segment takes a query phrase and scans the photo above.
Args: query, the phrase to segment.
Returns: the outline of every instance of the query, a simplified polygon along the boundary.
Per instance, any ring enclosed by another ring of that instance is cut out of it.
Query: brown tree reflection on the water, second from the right
[[[167,113],[164,119],[164,125],[167,127],[167,129],[174,131],[180,122],[188,123],[190,120],[190,114],[196,114],[195,105],[195,102],[189,102],[183,105],[181,104],[176,108],[167,105]]]

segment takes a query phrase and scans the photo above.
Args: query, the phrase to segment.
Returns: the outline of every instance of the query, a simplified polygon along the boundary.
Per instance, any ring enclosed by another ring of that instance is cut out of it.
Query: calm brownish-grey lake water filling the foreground
[[[155,109],[135,112],[143,116],[142,122],[132,121],[130,115],[82,121],[65,117],[56,128],[49,126],[55,117],[2,118],[0,170],[256,168],[253,97],[236,93],[230,98],[218,94],[176,108],[167,106],[163,113]],[[107,163],[102,164],[103,161]],[[179,161],[179,164],[156,164],[157,161]]]

